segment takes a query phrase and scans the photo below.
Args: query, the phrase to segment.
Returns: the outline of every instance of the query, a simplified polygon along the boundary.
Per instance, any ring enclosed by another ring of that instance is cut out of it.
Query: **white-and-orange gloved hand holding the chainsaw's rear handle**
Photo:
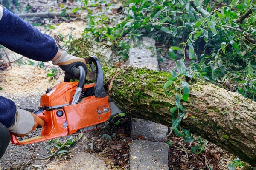
[[[35,128],[41,127],[44,127],[44,120],[29,111],[17,109],[15,120],[8,130],[16,136],[24,137]]]

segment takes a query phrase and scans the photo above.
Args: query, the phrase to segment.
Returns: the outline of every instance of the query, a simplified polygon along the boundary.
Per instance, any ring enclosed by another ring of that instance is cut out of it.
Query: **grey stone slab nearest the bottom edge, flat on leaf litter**
[[[130,170],[169,170],[168,144],[134,140],[130,144]]]

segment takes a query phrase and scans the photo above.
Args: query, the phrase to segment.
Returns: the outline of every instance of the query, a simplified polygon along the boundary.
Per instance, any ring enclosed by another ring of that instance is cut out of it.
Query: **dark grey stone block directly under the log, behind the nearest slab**
[[[144,139],[164,142],[168,132],[169,128],[159,123],[131,118],[131,138],[133,139],[137,139],[137,136],[143,136]]]

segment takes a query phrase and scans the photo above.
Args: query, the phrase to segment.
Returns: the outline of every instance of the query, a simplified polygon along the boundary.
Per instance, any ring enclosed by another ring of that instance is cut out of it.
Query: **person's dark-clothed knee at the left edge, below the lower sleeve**
[[[5,125],[0,123],[0,158],[2,158],[9,143],[10,143],[10,132]]]

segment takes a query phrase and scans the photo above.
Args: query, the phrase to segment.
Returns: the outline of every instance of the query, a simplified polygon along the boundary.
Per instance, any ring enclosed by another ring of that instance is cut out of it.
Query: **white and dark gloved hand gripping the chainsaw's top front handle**
[[[62,51],[61,56],[52,62],[52,64],[60,66],[65,71],[65,77],[67,79],[79,79],[80,71],[77,67],[80,65],[84,68],[85,75],[88,73],[85,59],[67,54],[66,51]]]

